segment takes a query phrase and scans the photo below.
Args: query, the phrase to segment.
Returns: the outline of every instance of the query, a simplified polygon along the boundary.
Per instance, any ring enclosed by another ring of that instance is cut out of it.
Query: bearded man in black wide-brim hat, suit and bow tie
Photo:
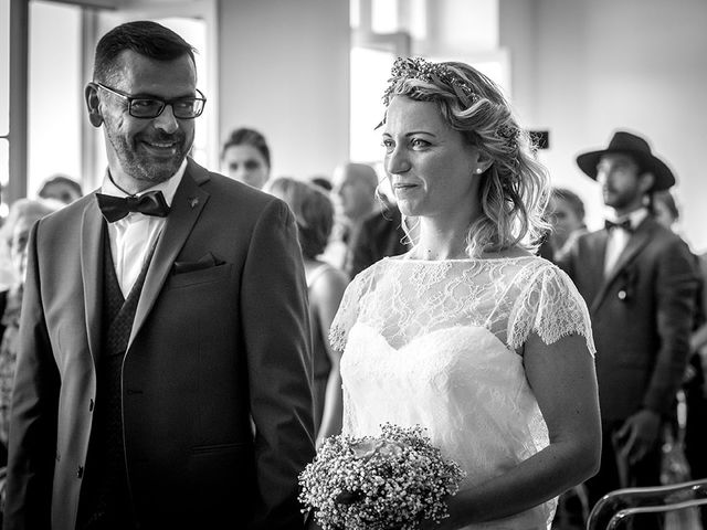
[[[559,262],[587,300],[597,346],[603,446],[600,470],[585,483],[593,505],[621,487],[661,483],[661,433],[687,363],[698,275],[685,242],[650,211],[647,198],[675,177],[645,139],[616,131],[577,163],[614,213]],[[644,517],[636,528],[659,528]]]

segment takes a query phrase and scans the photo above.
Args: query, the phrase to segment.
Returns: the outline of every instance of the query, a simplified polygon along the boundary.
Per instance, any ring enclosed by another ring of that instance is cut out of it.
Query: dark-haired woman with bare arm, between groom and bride
[[[267,191],[285,201],[297,220],[299,245],[309,292],[309,320],[314,352],[314,403],[317,445],[341,430],[340,356],[329,346],[331,320],[339,308],[346,275],[319,259],[334,225],[334,206],[315,184],[281,177]]]

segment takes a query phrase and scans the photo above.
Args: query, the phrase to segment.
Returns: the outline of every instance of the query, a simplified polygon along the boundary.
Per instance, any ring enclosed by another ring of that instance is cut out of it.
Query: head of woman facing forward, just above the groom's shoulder
[[[229,136],[221,149],[224,174],[258,190],[270,178],[270,147],[257,130],[242,127]]]

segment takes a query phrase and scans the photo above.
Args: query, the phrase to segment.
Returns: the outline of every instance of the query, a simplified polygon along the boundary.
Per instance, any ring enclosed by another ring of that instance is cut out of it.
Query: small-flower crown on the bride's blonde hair
[[[443,63],[431,63],[422,57],[398,57],[390,74],[388,88],[383,93],[386,106],[390,103],[395,85],[404,80],[420,80],[425,83],[447,85],[466,107],[471,107],[479,99],[468,83]]]

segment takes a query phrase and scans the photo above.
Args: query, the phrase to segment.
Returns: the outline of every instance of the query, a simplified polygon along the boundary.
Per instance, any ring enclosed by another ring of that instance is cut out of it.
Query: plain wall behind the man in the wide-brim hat
[[[551,148],[541,158],[555,183],[582,195],[590,226],[599,225],[603,204],[574,157],[604,147],[614,129],[627,128],[646,136],[673,168],[680,230],[695,250],[707,250],[700,157],[707,140],[707,3],[500,2],[500,45],[510,50],[514,100],[528,126],[549,128]],[[532,65],[532,72],[519,63]]]

